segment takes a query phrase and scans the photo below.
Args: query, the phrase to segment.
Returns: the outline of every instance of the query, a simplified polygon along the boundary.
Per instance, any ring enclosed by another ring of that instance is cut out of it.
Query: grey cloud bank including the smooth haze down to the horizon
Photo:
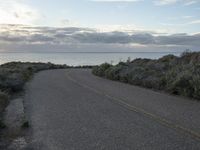
[[[153,32],[97,32],[90,28],[0,26],[1,51],[183,51],[200,50],[200,34],[159,35]]]

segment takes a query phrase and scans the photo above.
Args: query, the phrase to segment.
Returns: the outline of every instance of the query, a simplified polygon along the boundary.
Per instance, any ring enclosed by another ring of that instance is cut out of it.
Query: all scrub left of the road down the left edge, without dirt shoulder
[[[68,66],[29,62],[10,62],[0,65],[0,128],[5,127],[1,116],[9,99],[23,90],[25,83],[31,79],[34,73],[47,69],[63,68],[68,68]]]

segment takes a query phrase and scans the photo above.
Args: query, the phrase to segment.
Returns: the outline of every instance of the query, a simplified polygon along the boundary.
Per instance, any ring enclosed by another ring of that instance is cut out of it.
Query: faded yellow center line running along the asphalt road
[[[164,118],[161,118],[160,116],[157,116],[155,114],[149,113],[149,112],[147,112],[146,110],[144,110],[142,108],[136,107],[134,105],[130,105],[130,104],[128,104],[128,103],[125,102],[126,101],[125,99],[116,98],[116,97],[108,95],[108,94],[106,94],[106,93],[104,93],[104,92],[102,92],[100,90],[94,89],[94,88],[92,88],[92,87],[90,87],[90,86],[88,86],[86,84],[81,84],[80,82],[78,82],[77,80],[75,80],[74,78],[72,78],[69,75],[69,73],[67,73],[66,75],[67,75],[67,78],[69,80],[71,80],[75,84],[77,84],[77,85],[79,85],[79,86],[81,86],[81,87],[83,87],[85,89],[89,89],[90,91],[93,91],[96,94],[99,94],[101,96],[105,96],[108,99],[110,99],[110,100],[112,100],[114,102],[117,102],[119,105],[124,106],[124,107],[126,107],[127,109],[129,109],[131,111],[134,111],[134,112],[137,112],[137,113],[141,113],[141,114],[145,115],[146,117],[151,118],[151,119],[155,120],[156,122],[158,122],[158,123],[160,123],[162,125],[165,125],[165,126],[171,128],[171,129],[175,129],[175,130],[177,130],[177,131],[179,131],[181,133],[190,135],[193,138],[195,138],[195,139],[197,139],[197,140],[200,141],[200,134],[197,133],[197,132],[195,132],[195,131],[193,131],[193,130],[191,130],[191,129],[183,127],[183,126],[181,126],[179,124],[175,124],[175,123],[173,123],[173,122],[171,122],[169,120],[166,120]]]

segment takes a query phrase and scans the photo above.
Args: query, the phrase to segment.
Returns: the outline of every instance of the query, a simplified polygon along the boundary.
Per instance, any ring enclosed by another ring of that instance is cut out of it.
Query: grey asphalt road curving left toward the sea
[[[200,149],[200,102],[102,79],[87,69],[36,74],[25,106],[36,150]]]

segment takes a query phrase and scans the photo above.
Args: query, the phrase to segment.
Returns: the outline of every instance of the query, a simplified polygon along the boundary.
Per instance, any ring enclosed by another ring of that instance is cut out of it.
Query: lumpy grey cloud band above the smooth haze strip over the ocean
[[[1,25],[0,46],[3,45],[84,45],[84,44],[136,44],[200,46],[200,35],[174,34],[155,35],[148,31],[98,32],[90,28],[50,28],[22,25]]]

